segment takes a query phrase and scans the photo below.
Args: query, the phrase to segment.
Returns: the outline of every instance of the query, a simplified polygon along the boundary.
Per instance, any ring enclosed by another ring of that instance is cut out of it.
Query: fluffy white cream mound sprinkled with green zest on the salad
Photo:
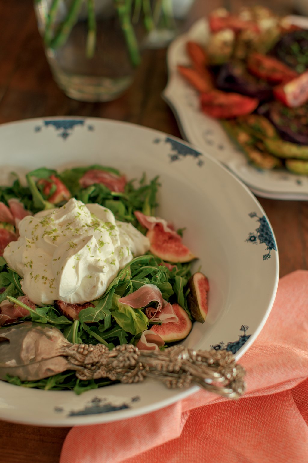
[[[64,206],[27,216],[18,241],[3,257],[35,304],[79,304],[103,295],[109,283],[150,242],[132,224],[115,220],[98,204],[72,198]]]

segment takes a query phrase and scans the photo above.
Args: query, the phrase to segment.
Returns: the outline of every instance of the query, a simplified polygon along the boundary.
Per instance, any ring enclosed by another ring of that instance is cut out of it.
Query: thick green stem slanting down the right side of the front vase
[[[127,49],[131,63],[133,64],[133,66],[138,66],[138,64],[140,63],[140,53],[135,31],[130,21],[131,9],[130,7],[127,8],[127,3],[125,2],[125,0],[114,1],[121,23],[121,29],[123,31],[124,38],[127,44]],[[130,6],[130,4],[128,6]]]

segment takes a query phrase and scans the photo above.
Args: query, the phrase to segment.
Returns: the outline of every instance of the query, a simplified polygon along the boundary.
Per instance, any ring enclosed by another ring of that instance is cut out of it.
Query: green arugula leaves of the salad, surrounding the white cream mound
[[[59,207],[65,204],[66,200],[62,200],[56,205],[50,201],[55,191],[59,189],[59,183],[50,180],[55,178],[65,185],[72,197],[84,203],[98,203],[109,208],[116,219],[132,223],[145,234],[146,230],[139,224],[134,212],[141,211],[145,215],[154,215],[157,206],[158,178],[155,177],[151,181],[147,181],[146,176],[143,175],[138,182],[134,180],[126,182],[121,192],[111,191],[103,183],[95,183],[81,188],[80,179],[91,169],[109,172],[115,178],[121,175],[116,169],[99,165],[67,169],[60,173],[52,169],[36,169],[26,175],[27,186],[22,186],[16,177],[12,186],[0,187],[0,201],[9,206],[8,201],[11,198],[17,198],[25,209],[32,213]],[[48,189],[46,189],[46,181],[49,181]],[[12,228],[12,224],[6,222],[0,226]],[[177,263],[173,266],[166,266],[160,257],[154,256],[150,252],[135,257],[119,271],[103,296],[91,301],[94,307],[82,309],[78,319],[72,320],[60,313],[56,306],[42,305],[32,309],[18,300],[18,296],[24,295],[20,283],[21,277],[7,266],[3,257],[0,257],[0,303],[9,300],[28,310],[28,315],[19,319],[18,322],[31,320],[52,324],[59,328],[71,343],[101,343],[108,346],[109,349],[113,349],[119,344],[136,344],[142,332],[150,329],[151,325],[155,323],[161,323],[148,319],[145,315],[145,308],[132,308],[119,301],[121,297],[133,293],[145,284],[156,285],[164,300],[171,304],[178,303],[191,319],[187,307],[187,294],[189,293],[187,282],[191,277],[190,265],[190,263]],[[109,380],[104,379],[81,381],[71,371],[40,381],[22,382],[18,377],[9,376],[6,379],[12,384],[28,388],[72,389],[77,394],[110,383]]]

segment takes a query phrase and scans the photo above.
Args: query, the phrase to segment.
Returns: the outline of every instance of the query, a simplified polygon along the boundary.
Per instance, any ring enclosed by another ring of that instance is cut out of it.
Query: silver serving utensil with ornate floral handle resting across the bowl
[[[226,350],[193,350],[175,345],[163,351],[123,344],[71,344],[52,325],[23,322],[0,330],[0,379],[18,376],[33,381],[65,370],[81,380],[109,378],[136,383],[155,378],[168,388],[192,384],[236,399],[245,390],[245,371]]]

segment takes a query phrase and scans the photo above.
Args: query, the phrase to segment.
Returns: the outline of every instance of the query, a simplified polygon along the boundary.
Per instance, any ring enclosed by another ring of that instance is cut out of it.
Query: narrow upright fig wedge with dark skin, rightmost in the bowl
[[[204,323],[207,314],[207,293],[210,286],[209,281],[201,272],[194,273],[188,280],[187,287],[190,292],[187,295],[187,304],[193,318]]]

